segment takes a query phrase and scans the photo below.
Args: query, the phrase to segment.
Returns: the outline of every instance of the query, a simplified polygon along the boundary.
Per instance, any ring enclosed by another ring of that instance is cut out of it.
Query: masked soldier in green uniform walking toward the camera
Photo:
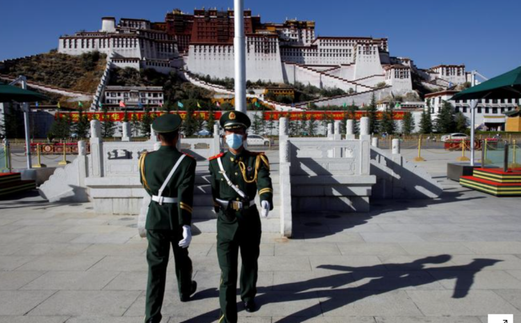
[[[273,209],[270,163],[263,153],[247,151],[243,143],[251,125],[239,111],[224,113],[220,125],[226,133],[229,151],[210,158],[210,179],[217,212],[217,258],[221,268],[219,323],[237,322],[238,252],[242,258],[240,297],[245,310],[256,310],[261,219],[254,198],[259,194],[261,214]]]

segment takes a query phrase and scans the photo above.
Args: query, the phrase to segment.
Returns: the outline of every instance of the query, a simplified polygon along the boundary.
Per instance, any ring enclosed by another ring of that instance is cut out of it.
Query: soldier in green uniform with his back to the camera
[[[145,224],[149,265],[144,319],[147,323],[161,321],[170,245],[181,301],[188,301],[197,289],[188,256],[196,161],[176,149],[181,122],[179,115],[155,119],[152,129],[158,133],[161,147],[142,154],[139,160],[140,180],[151,196]]]

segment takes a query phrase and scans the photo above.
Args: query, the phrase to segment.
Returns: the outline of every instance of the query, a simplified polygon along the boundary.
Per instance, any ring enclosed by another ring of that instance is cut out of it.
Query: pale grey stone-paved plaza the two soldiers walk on
[[[489,313],[519,320],[521,199],[447,181],[446,163],[461,153],[442,152],[425,151],[422,164],[443,183],[439,199],[299,214],[294,238],[264,234],[259,309],[246,313],[239,303],[239,322],[486,323]],[[136,224],[36,194],[0,200],[0,322],[142,322],[147,241]],[[199,287],[188,303],[179,301],[169,263],[163,322],[217,322],[215,240],[192,240]]]

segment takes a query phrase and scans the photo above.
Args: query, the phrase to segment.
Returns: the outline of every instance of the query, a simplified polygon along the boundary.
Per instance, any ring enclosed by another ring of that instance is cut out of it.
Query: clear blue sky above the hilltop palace
[[[0,60],[42,53],[58,37],[100,28],[102,16],[163,21],[173,8],[232,8],[232,0],[1,0]],[[391,56],[420,68],[464,63],[493,77],[521,65],[519,0],[245,1],[263,22],[317,22],[317,35],[389,38]]]

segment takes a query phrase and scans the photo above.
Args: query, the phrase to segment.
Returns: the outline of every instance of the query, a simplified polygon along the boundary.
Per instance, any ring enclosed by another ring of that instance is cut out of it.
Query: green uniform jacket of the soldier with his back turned
[[[169,172],[183,154],[175,147],[161,146],[140,157],[140,181],[150,195],[158,195]],[[174,230],[192,223],[196,161],[186,156],[163,191],[163,197],[177,197],[178,203],[159,205],[151,201],[144,229]]]

